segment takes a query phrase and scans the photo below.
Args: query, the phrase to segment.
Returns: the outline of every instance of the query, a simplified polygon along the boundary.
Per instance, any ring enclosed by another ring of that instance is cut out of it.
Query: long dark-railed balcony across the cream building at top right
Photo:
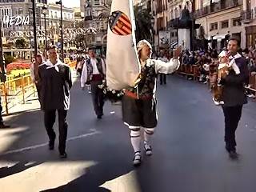
[[[242,6],[242,0],[222,0],[220,2],[214,2],[210,6],[205,6],[200,10],[194,11],[194,18],[201,18],[207,14],[214,14],[222,10],[234,8],[236,6]]]

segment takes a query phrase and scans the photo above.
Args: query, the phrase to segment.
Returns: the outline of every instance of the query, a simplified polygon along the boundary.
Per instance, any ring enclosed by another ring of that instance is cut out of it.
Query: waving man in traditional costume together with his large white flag
[[[134,166],[141,164],[141,130],[144,130],[146,155],[152,154],[150,137],[157,126],[155,99],[158,73],[171,74],[178,70],[180,49],[170,62],[150,59],[149,42],[135,41],[135,26],[131,0],[113,0],[108,30],[106,54],[106,83],[112,90],[125,89],[122,98],[122,118],[130,128],[130,141],[134,148]],[[117,49],[117,45],[118,49]]]

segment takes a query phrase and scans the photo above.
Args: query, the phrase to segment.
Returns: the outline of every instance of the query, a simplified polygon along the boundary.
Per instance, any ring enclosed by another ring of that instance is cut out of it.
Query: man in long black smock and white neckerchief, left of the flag
[[[60,158],[66,158],[67,137],[67,111],[70,109],[70,88],[72,78],[70,66],[62,63],[58,58],[57,47],[50,46],[49,59],[39,66],[40,99],[44,111],[44,123],[49,136],[49,150],[54,150],[54,122],[56,110],[58,111],[59,130],[59,154]]]

